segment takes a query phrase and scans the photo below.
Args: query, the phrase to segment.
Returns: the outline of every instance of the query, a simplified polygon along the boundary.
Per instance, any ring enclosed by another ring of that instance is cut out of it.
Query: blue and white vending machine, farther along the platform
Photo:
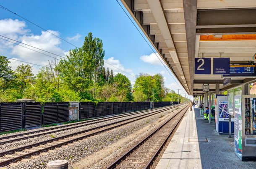
[[[219,134],[228,134],[227,96],[215,96],[215,124]],[[231,119],[231,133],[234,133],[234,118]]]

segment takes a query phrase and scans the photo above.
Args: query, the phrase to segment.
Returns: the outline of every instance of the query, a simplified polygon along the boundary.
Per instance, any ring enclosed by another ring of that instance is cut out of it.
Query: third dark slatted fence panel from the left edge
[[[44,124],[57,123],[58,108],[57,103],[44,104]]]

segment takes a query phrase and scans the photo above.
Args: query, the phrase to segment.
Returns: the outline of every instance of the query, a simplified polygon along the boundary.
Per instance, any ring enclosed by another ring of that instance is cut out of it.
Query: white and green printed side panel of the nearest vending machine
[[[242,158],[242,103],[241,96],[235,96],[235,152]]]

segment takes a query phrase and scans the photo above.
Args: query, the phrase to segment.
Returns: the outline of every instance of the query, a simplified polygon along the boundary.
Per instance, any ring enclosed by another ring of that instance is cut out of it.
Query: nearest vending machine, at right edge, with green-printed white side
[[[235,96],[235,153],[242,161],[256,160],[256,96]]]

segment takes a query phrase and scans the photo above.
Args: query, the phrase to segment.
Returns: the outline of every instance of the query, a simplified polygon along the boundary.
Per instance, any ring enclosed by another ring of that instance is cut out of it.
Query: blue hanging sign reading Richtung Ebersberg
[[[213,74],[225,75],[230,73],[230,58],[213,58]]]

